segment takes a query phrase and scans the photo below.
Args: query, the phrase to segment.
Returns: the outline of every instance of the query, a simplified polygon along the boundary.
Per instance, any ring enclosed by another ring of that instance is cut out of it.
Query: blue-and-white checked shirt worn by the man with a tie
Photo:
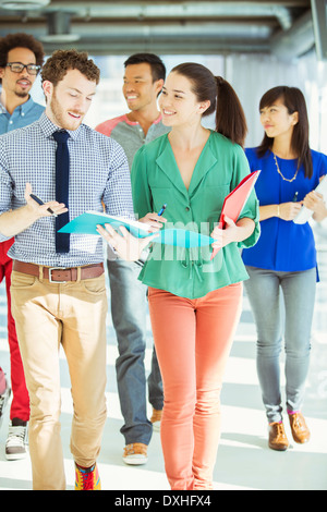
[[[26,204],[26,183],[45,203],[56,195],[58,126],[44,113],[38,121],[0,136],[0,215]],[[134,218],[126,156],[112,138],[82,124],[70,131],[70,220],[86,210]],[[22,233],[9,251],[12,259],[50,267],[77,267],[104,260],[102,239],[71,235],[68,254],[57,254],[55,217],[43,217]],[[0,233],[0,242],[8,240]]]

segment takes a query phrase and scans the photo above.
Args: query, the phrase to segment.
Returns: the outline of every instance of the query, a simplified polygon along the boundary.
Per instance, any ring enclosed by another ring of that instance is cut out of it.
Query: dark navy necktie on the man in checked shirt
[[[69,208],[69,186],[70,186],[70,154],[68,138],[70,134],[64,130],[55,132],[53,138],[57,142],[56,151],[56,200],[64,203]],[[58,233],[58,230],[70,221],[69,212],[61,214],[56,218],[56,253],[69,253],[70,234]]]

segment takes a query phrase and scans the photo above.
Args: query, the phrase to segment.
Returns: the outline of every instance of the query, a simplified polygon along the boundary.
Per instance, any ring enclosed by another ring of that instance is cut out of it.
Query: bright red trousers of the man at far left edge
[[[15,322],[11,314],[10,283],[12,259],[7,255],[7,253],[12,246],[13,242],[14,239],[0,243],[0,282],[2,282],[3,278],[5,278],[8,303],[8,342],[11,365],[11,389],[13,394],[10,418],[20,418],[24,422],[27,422],[29,419],[29,397],[25,383]]]

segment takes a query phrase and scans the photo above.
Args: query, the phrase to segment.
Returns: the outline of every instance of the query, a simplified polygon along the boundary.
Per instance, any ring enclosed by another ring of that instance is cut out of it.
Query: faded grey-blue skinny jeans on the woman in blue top
[[[257,374],[269,423],[282,419],[280,353],[286,350],[286,398],[289,412],[303,403],[308,373],[316,269],[277,272],[246,267],[244,282],[257,330]],[[283,302],[281,301],[281,293]]]

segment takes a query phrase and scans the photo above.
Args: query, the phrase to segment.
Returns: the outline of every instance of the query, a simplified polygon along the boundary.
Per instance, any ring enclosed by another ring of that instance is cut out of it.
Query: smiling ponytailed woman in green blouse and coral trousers
[[[162,229],[210,234],[220,247],[154,243],[140,279],[147,284],[154,340],[164,381],[161,442],[172,489],[211,489],[219,442],[222,374],[241,314],[247,278],[239,247],[258,236],[253,193],[237,223],[217,223],[225,197],[249,174],[246,124],[232,87],[201,64],[169,74],[159,99],[168,135],[134,157],[132,188],[138,218]],[[216,110],[217,109],[217,110]],[[216,131],[202,125],[216,111]],[[219,132],[219,133],[218,133]],[[167,204],[165,219],[159,211]],[[155,242],[155,239],[154,239]]]

